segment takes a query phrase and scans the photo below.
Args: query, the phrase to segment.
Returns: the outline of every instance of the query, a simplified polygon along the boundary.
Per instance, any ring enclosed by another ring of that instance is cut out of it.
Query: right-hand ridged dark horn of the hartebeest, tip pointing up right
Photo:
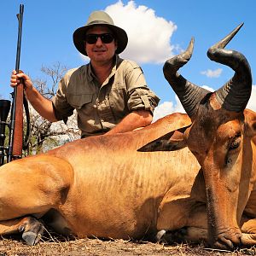
[[[216,91],[218,102],[229,111],[241,112],[246,108],[252,91],[252,73],[244,55],[230,49],[224,49],[240,30],[243,23],[236,27],[228,36],[208,49],[207,55],[212,61],[231,67],[235,74],[230,81]]]

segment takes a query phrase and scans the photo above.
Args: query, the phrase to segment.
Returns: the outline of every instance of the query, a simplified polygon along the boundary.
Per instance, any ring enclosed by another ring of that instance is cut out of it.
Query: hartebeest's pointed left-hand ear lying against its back
[[[190,125],[189,125],[190,126]],[[144,145],[137,149],[139,152],[154,152],[154,151],[175,151],[185,148],[187,144],[183,140],[183,133],[189,127],[183,127],[175,131],[166,133],[166,135]]]

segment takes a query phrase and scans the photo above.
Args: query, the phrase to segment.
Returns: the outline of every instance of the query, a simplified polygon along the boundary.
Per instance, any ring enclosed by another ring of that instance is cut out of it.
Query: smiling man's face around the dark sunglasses
[[[93,26],[86,32],[86,35],[104,33],[111,33],[113,35],[113,32],[107,26]],[[117,43],[114,39],[109,44],[104,44],[101,38],[97,38],[95,44],[85,43],[86,53],[93,64],[112,61],[116,49]]]

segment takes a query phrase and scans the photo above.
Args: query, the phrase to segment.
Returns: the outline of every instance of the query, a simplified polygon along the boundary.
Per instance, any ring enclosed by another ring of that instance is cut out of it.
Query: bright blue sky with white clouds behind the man
[[[68,68],[88,62],[73,45],[73,32],[84,26],[90,13],[105,10],[114,24],[128,34],[120,57],[137,61],[148,87],[160,97],[154,119],[183,112],[172,87],[164,78],[165,61],[187,48],[195,38],[191,60],[179,70],[184,78],[208,90],[218,90],[234,74],[230,67],[210,61],[207,49],[244,22],[226,49],[247,57],[253,90],[247,108],[256,111],[256,1],[255,0],[1,0],[0,96],[10,98],[10,73],[15,69],[20,3],[24,4],[20,69],[32,79],[44,79],[41,67],[57,62]]]

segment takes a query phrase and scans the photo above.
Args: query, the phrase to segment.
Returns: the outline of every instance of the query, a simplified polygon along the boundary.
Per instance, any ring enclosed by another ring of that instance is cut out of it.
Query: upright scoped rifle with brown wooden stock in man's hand
[[[15,70],[20,73],[20,47],[21,47],[21,32],[23,21],[24,5],[20,4],[20,13],[17,15],[19,21],[18,29],[18,42],[16,52]],[[7,156],[7,162],[21,158],[22,149],[28,147],[30,135],[30,119],[28,111],[28,103],[24,94],[24,84],[22,81],[18,86],[15,86],[12,93],[12,108],[10,122],[7,123],[6,119],[9,114],[10,102],[7,100],[0,101],[0,166],[4,163],[4,157]],[[26,143],[23,143],[23,106],[26,112]],[[4,147],[5,141],[5,126],[9,127],[9,147]],[[7,153],[5,153],[7,152]]]

